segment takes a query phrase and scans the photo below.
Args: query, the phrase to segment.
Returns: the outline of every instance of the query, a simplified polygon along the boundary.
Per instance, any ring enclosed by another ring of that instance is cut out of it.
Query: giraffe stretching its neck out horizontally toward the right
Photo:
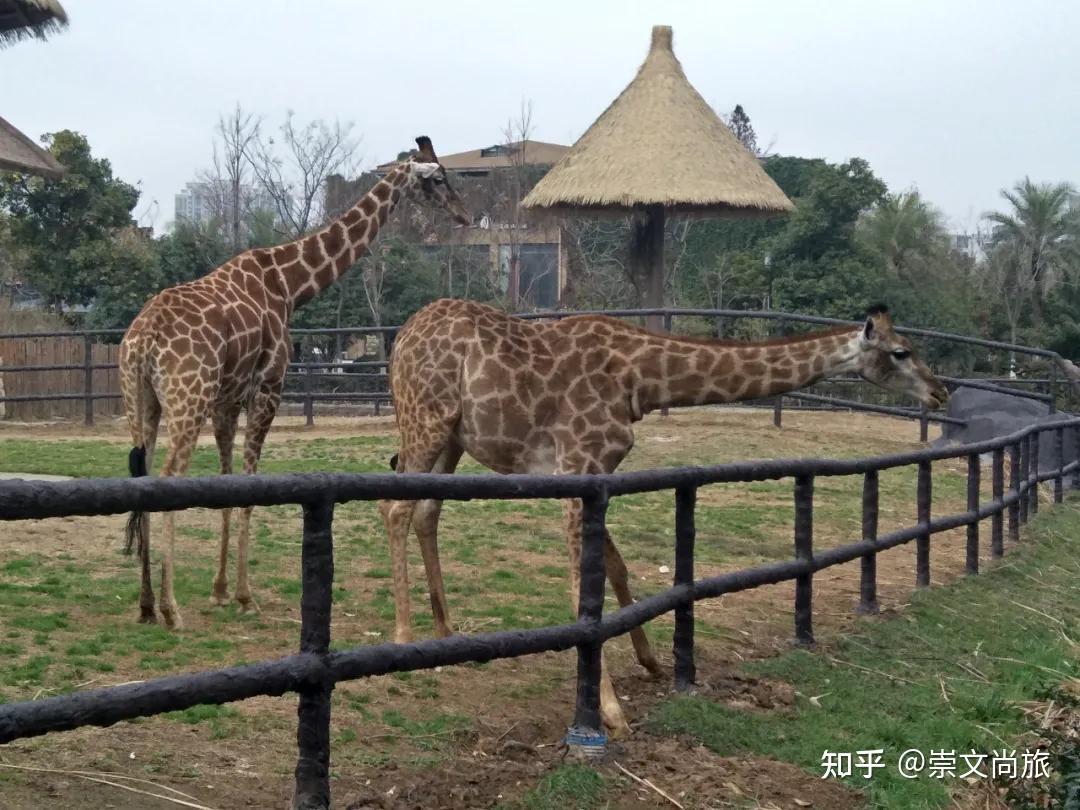
[[[463,300],[438,300],[402,328],[390,361],[401,447],[397,472],[453,473],[463,453],[499,473],[610,473],[634,444],[633,423],[665,406],[770,396],[854,373],[940,407],[948,392],[897,335],[885,307],[865,322],[797,337],[739,342],[662,335],[602,315],[525,321]],[[394,638],[411,639],[406,539],[416,530],[435,633],[450,634],[438,563],[442,502],[380,501],[390,541]],[[581,502],[566,501],[570,600],[577,610]],[[607,577],[621,606],[633,597],[610,535]],[[639,663],[659,665],[640,627]],[[629,730],[606,665],[600,712],[613,735]]]

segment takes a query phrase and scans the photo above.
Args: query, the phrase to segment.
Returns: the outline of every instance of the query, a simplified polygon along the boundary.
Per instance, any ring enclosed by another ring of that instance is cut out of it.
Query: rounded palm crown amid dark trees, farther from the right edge
[[[918,266],[948,248],[941,212],[918,191],[888,194],[860,221],[859,235],[883,259],[890,274],[907,282],[917,281]]]

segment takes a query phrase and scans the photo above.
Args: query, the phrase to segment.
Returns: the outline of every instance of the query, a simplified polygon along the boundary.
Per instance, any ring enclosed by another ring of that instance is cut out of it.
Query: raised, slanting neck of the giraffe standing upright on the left
[[[282,272],[291,311],[340,279],[363,256],[404,193],[408,168],[392,170],[360,201],[325,228],[274,248],[295,253],[297,260]]]

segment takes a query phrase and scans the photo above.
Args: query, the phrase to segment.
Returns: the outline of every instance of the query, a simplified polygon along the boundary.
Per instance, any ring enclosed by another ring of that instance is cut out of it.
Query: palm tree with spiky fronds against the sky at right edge
[[[1068,183],[1031,183],[1029,177],[1002,189],[1012,212],[991,211],[994,246],[1008,243],[1015,257],[1016,286],[1029,288],[1036,314],[1042,315],[1047,294],[1080,268],[1080,206]]]

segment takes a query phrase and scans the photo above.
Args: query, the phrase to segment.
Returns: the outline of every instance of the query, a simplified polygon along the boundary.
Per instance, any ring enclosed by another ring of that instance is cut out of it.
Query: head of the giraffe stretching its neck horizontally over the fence
[[[867,310],[858,342],[855,372],[863,379],[913,396],[928,408],[939,408],[948,401],[945,386],[912,351],[910,341],[896,334],[883,306]]]

